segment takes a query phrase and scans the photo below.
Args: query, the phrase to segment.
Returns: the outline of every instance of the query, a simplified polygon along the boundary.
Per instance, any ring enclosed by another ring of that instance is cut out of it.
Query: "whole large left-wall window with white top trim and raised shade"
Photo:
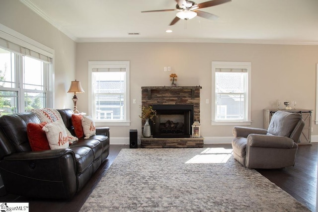
[[[0,25],[0,115],[53,107],[53,54]]]

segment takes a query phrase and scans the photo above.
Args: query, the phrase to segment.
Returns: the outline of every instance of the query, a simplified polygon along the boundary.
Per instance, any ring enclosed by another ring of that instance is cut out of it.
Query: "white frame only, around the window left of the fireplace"
[[[130,62],[129,61],[88,61],[88,114],[91,114],[96,126],[130,126]],[[124,119],[123,120],[96,120],[95,99],[93,94],[93,69],[122,68],[126,73],[126,84],[124,93]]]

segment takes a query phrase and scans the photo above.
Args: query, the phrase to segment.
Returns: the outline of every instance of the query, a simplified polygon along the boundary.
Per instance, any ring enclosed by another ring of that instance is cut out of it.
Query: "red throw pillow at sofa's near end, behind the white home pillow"
[[[49,141],[46,138],[45,132],[42,130],[46,124],[46,122],[42,122],[40,124],[29,123],[26,125],[26,132],[32,151],[50,149]]]

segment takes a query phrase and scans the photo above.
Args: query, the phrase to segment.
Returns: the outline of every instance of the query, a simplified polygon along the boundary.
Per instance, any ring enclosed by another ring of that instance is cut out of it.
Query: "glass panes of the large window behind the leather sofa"
[[[0,48],[1,115],[46,107],[50,69],[50,64]]]

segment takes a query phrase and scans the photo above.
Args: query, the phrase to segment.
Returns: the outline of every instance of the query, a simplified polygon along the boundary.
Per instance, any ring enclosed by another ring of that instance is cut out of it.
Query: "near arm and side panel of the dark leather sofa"
[[[13,153],[0,161],[8,193],[69,199],[77,192],[76,161],[69,149]]]

